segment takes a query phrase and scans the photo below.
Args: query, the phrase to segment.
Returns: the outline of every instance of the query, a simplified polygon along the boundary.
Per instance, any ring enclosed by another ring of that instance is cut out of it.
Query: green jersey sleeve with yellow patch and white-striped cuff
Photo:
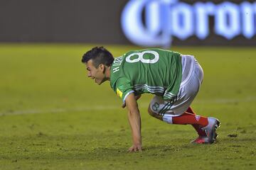
[[[134,93],[130,81],[124,77],[117,80],[115,91],[117,93],[117,96],[119,96],[119,98],[122,98],[123,103],[125,103],[125,98],[127,98],[129,94]]]

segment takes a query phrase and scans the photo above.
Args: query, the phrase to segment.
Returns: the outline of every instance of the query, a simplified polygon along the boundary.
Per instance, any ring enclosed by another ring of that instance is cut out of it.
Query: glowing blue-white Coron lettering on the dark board
[[[173,36],[181,40],[193,35],[206,39],[210,16],[214,18],[215,34],[228,40],[238,35],[250,39],[256,34],[256,1],[191,5],[178,0],[130,0],[122,12],[122,30],[134,44],[166,47],[171,45]]]

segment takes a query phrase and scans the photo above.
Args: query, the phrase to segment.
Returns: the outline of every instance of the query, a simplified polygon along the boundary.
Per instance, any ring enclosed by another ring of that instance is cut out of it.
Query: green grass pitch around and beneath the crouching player
[[[218,142],[191,145],[190,125],[168,125],[139,101],[144,151],[132,144],[127,111],[80,63],[93,45],[0,44],[0,169],[255,169],[255,47],[173,47],[204,69],[193,102],[220,119]],[[114,56],[132,46],[107,45]]]

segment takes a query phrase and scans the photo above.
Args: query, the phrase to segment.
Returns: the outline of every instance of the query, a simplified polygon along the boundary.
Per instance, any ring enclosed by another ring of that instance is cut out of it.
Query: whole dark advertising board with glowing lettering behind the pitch
[[[256,45],[256,0],[0,0],[0,42]]]

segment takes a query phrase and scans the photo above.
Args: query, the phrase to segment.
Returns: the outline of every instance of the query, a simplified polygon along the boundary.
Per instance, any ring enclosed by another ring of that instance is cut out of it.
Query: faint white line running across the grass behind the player
[[[216,98],[212,100],[201,100],[195,101],[196,104],[205,104],[205,103],[246,103],[250,101],[256,101],[256,96],[248,96],[247,98]],[[256,103],[255,103],[256,104]],[[149,103],[140,103],[139,108],[147,108]],[[76,108],[53,108],[49,110],[27,110],[27,111],[12,111],[12,112],[0,112],[1,115],[23,115],[23,114],[36,114],[36,113],[65,113],[65,112],[78,112],[78,111],[110,111],[121,108],[118,106],[83,106]]]

